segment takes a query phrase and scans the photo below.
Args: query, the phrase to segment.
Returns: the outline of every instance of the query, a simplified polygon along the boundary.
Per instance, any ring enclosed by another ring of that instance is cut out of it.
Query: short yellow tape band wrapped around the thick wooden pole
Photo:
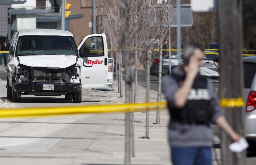
[[[243,107],[245,105],[243,98],[219,99],[220,106],[224,108]]]

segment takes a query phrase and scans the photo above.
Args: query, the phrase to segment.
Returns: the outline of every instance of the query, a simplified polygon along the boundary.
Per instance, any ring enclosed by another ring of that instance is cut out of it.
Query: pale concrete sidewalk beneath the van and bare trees
[[[5,72],[0,66],[0,74]],[[5,73],[6,74],[6,73]],[[3,76],[4,77],[4,76]],[[62,97],[23,96],[21,103],[6,99],[6,80],[0,80],[0,108],[74,106]],[[120,104],[125,99],[114,92],[82,90],[82,104]],[[150,91],[150,101],[157,92]],[[162,96],[162,101],[164,101]],[[138,102],[145,102],[145,88],[138,87]],[[167,110],[150,112],[150,139],[142,139],[146,113],[135,112],[135,156],[131,164],[170,165],[167,142]],[[0,119],[0,162],[6,165],[115,165],[124,163],[125,114],[85,114],[32,119]]]

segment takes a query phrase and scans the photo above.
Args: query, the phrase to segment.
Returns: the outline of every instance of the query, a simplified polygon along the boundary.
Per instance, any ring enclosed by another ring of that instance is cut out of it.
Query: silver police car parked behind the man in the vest
[[[183,52],[181,53],[181,57],[183,59]],[[213,60],[218,55],[216,51],[204,51],[204,65],[200,68],[200,73],[205,76],[209,76],[211,78],[219,77],[219,70],[214,65]],[[182,60],[183,61],[183,60]],[[152,65],[150,67],[150,75],[158,76],[158,63],[159,58],[156,57],[152,61]],[[178,55],[177,52],[171,54],[171,68],[178,66]],[[162,58],[162,75],[169,74],[169,55]]]

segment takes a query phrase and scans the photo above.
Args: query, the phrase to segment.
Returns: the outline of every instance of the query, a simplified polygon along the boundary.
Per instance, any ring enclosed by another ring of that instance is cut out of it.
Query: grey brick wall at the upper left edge
[[[11,5],[0,5],[0,36],[2,37],[6,37],[8,33],[8,7]]]

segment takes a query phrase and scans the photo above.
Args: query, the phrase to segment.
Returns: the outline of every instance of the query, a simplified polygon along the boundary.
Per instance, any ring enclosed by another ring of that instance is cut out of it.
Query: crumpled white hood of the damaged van
[[[76,56],[34,55],[19,56],[20,64],[32,67],[66,68],[76,63]]]

